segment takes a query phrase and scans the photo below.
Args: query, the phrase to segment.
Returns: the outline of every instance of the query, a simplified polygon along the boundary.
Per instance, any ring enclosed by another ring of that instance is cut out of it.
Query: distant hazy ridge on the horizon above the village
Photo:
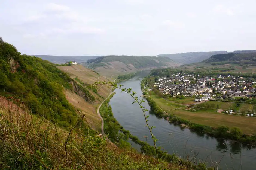
[[[205,59],[210,58],[216,54],[226,54],[227,51],[210,51],[210,52],[190,52],[190,53],[178,53],[178,54],[160,54],[157,56],[169,57],[176,63],[190,64],[201,62]]]

